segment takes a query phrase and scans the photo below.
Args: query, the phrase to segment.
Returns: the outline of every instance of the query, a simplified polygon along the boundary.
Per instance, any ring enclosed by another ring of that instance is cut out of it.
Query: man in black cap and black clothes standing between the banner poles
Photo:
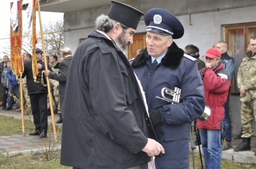
[[[32,60],[24,63],[24,73],[22,78],[26,77],[28,95],[31,102],[31,109],[33,114],[33,120],[35,124],[35,131],[29,133],[29,135],[40,135],[40,138],[47,136],[47,87],[45,79],[42,77],[42,71],[45,70],[43,59],[44,52],[40,49],[36,49],[36,62],[38,67],[38,75],[36,76],[36,82],[33,77]],[[47,66],[51,70],[50,66]],[[52,70],[51,70],[52,71]]]

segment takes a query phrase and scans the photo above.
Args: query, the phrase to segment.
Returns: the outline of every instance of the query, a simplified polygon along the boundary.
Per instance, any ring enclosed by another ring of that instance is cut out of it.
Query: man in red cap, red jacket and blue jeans
[[[204,83],[205,105],[211,108],[211,116],[207,121],[197,119],[202,149],[204,151],[205,168],[221,166],[221,131],[220,121],[224,119],[224,107],[230,76],[220,61],[218,48],[209,48],[205,53],[205,68],[200,71]]]

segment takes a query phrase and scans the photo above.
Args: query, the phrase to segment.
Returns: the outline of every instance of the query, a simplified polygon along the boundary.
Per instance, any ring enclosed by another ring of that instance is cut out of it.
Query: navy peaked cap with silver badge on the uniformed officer
[[[172,35],[173,39],[179,39],[184,34],[184,27],[169,11],[152,8],[145,13],[144,19],[147,26],[146,31]]]

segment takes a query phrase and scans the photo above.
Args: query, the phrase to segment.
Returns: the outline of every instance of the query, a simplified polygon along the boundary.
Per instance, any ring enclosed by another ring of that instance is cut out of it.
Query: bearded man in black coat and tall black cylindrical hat
[[[124,51],[141,11],[111,1],[76,49],[68,70],[63,109],[61,165],[74,168],[147,168],[164,153],[150,139],[151,122]],[[148,127],[149,126],[149,127]]]

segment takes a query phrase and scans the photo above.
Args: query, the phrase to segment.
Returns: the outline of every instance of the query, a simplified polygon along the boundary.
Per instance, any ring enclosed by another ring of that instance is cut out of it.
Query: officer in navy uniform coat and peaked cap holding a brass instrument
[[[205,107],[196,59],[184,55],[173,41],[183,36],[184,28],[172,13],[152,8],[144,18],[147,48],[135,57],[132,68],[145,91],[152,125],[165,150],[161,158],[156,158],[156,168],[189,168],[191,122]],[[180,103],[157,99],[163,87],[181,89]]]

